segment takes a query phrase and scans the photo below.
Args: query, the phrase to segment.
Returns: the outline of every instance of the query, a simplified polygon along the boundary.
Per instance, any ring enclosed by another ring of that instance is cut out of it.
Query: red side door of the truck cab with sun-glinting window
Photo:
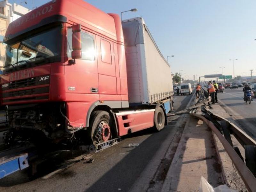
[[[82,58],[76,59],[75,64],[65,66],[66,84],[68,93],[87,93],[87,99],[96,99],[99,90],[98,62],[96,50],[96,36],[82,29]],[[71,58],[72,52],[72,29],[67,29],[67,56]],[[81,95],[76,95],[82,97]]]

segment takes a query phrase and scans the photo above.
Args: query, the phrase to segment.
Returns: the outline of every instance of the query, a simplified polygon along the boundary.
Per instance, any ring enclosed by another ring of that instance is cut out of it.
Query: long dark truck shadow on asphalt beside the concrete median
[[[162,142],[174,132],[176,129],[168,126],[152,134],[85,191],[118,191],[118,188],[128,191],[160,149]]]

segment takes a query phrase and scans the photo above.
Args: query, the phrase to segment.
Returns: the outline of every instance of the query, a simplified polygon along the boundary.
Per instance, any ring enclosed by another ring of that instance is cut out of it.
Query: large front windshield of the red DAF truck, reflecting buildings
[[[8,44],[6,47],[6,57],[4,67],[23,65],[37,62],[38,60],[47,60],[56,62],[51,58],[59,58],[61,54],[61,26],[51,28],[50,30],[37,33],[23,41],[15,44]]]

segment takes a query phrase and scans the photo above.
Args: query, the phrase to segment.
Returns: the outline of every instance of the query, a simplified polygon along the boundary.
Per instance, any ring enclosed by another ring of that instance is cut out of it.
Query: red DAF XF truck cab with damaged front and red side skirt
[[[4,43],[1,103],[11,129],[56,142],[83,129],[102,142],[166,124],[159,104],[129,108],[118,15],[52,0],[12,22]]]

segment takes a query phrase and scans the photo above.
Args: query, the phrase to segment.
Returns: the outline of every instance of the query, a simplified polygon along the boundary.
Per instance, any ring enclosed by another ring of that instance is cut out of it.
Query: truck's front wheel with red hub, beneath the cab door
[[[112,137],[111,125],[111,119],[107,111],[94,111],[88,128],[90,142],[101,143],[110,140]]]

